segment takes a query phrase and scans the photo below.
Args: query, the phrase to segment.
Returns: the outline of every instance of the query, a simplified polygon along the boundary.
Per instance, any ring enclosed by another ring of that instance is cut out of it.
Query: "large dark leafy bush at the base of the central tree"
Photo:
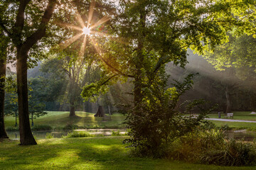
[[[163,157],[171,142],[195,130],[208,113],[202,109],[204,102],[192,101],[187,105],[185,113],[194,107],[201,108],[197,118],[181,113],[178,108],[179,97],[192,87],[192,77],[190,74],[183,83],[176,81],[176,86],[167,89],[167,78],[163,74],[154,84],[144,88],[142,102],[127,115],[125,123],[131,139],[124,142],[131,142],[131,147],[142,155]]]

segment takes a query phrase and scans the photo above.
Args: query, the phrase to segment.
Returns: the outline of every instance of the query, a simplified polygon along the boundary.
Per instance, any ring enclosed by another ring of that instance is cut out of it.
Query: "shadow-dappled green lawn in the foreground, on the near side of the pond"
[[[38,140],[38,145],[0,143],[0,169],[256,169],[133,157],[122,144],[125,137],[87,137]]]

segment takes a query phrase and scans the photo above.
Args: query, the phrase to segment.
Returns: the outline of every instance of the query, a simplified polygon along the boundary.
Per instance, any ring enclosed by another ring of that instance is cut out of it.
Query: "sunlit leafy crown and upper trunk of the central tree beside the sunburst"
[[[251,23],[242,20],[242,13],[255,9],[255,1],[237,0],[127,0],[119,5],[119,16],[110,27],[113,38],[99,40],[101,45],[95,48],[110,70],[109,77],[134,78],[135,106],[142,101],[144,87],[153,83],[166,63],[183,67],[188,47],[202,53],[223,43],[229,30],[249,31]],[[85,98],[88,89],[82,93]]]

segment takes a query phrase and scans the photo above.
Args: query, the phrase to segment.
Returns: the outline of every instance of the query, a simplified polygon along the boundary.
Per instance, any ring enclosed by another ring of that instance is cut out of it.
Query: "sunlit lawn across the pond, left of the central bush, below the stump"
[[[77,116],[70,118],[68,117],[69,112],[48,111],[47,115],[36,118],[33,122],[34,125],[50,125],[53,128],[64,127],[68,124],[92,128],[125,128],[125,125],[122,124],[125,116],[119,113],[114,113],[111,115],[112,120],[107,121],[102,121],[102,118],[94,117],[93,115],[95,113],[77,111],[75,114]],[[15,125],[15,117],[6,116],[4,119],[6,128]]]

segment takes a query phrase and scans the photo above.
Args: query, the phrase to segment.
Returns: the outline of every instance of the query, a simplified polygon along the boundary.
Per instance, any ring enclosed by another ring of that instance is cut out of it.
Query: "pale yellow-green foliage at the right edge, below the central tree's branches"
[[[218,70],[235,67],[240,79],[245,79],[248,72],[255,69],[255,38],[252,35],[228,35],[227,43],[218,45],[214,53],[208,52],[204,57]]]

